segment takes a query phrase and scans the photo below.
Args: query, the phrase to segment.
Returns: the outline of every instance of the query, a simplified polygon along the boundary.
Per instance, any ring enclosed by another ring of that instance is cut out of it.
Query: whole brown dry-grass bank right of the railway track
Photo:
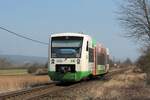
[[[112,77],[96,79],[75,88],[49,94],[49,100],[150,100],[147,75],[134,68]]]

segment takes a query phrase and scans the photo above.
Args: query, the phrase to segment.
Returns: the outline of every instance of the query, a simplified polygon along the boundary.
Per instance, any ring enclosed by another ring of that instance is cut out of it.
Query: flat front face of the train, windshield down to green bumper
[[[80,80],[83,37],[52,35],[49,47],[49,76],[53,81]]]

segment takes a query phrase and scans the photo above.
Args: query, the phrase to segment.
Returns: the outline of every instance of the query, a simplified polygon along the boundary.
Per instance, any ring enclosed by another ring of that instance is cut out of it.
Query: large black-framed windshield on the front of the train
[[[82,37],[53,37],[51,57],[52,58],[79,58],[82,50]]]

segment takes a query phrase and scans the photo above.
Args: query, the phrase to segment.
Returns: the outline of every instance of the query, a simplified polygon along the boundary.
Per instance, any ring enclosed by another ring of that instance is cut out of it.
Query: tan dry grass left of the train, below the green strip
[[[0,76],[0,93],[28,88],[34,84],[49,82],[48,76],[14,75]]]

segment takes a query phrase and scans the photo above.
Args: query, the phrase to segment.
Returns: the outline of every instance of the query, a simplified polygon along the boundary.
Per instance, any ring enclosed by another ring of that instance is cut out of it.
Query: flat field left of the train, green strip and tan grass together
[[[49,82],[49,77],[30,75],[27,69],[1,69],[0,93],[29,88],[35,84]]]

